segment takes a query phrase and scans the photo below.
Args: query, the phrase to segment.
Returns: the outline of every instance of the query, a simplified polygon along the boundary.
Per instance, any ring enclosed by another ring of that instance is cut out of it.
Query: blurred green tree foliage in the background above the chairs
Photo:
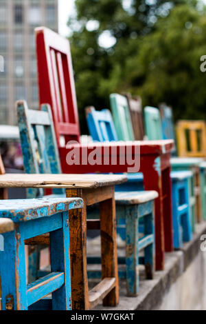
[[[76,0],[76,12],[69,39],[83,133],[84,108],[109,108],[111,92],[165,101],[176,118],[206,118],[206,16],[197,1]]]

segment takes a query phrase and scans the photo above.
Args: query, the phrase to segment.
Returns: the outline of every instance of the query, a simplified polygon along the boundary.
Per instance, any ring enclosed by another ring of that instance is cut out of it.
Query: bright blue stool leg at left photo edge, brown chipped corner
[[[3,234],[0,252],[2,310],[27,310],[24,241],[15,231]]]

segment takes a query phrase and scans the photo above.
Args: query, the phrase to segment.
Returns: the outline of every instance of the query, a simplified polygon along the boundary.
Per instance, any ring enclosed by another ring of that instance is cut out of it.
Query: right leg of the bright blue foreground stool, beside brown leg
[[[62,212],[62,228],[50,232],[52,272],[65,272],[65,285],[52,293],[53,310],[71,310],[71,277],[69,256],[69,214]]]

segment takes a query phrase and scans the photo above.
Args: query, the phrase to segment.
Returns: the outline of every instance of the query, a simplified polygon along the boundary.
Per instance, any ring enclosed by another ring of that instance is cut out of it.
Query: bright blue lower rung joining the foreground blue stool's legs
[[[64,272],[51,272],[27,285],[27,306],[59,289],[65,283]]]

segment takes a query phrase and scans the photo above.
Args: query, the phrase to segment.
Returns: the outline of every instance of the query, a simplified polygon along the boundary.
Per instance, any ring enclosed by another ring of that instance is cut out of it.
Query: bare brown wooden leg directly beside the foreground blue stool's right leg
[[[81,189],[67,190],[67,197],[84,197]],[[87,204],[69,212],[71,299],[73,310],[89,310],[87,279]]]

